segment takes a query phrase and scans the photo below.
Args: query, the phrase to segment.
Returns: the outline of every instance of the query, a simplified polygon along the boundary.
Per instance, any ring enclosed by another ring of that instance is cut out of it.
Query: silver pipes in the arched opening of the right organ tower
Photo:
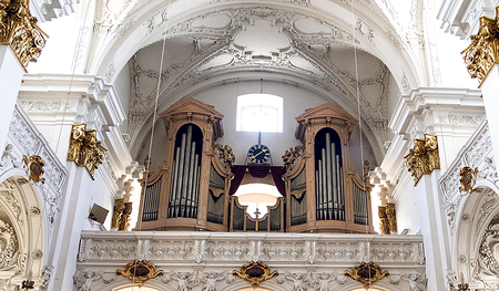
[[[336,144],[330,133],[325,133],[325,144],[319,148],[316,167],[316,205],[318,220],[345,220],[343,168]]]

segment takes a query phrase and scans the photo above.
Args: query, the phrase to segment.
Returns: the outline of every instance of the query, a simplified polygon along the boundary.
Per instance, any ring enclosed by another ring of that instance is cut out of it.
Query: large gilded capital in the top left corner
[[[0,0],[0,45],[9,45],[26,71],[45,46],[48,35],[37,25],[29,0]]]

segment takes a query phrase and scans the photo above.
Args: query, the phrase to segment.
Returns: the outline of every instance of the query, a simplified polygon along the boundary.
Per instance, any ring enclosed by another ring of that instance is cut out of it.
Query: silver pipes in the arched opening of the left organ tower
[[[193,125],[187,125],[186,132],[182,133],[180,145],[176,144],[175,148],[169,204],[171,218],[194,218],[196,214],[200,157],[196,154],[198,145],[194,139]]]

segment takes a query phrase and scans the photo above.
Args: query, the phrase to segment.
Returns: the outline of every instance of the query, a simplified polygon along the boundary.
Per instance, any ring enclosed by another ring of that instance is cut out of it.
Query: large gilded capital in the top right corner
[[[461,52],[466,69],[471,77],[477,77],[480,86],[490,70],[499,63],[499,7],[496,7],[496,18],[480,18],[478,33],[470,37],[471,44]]]

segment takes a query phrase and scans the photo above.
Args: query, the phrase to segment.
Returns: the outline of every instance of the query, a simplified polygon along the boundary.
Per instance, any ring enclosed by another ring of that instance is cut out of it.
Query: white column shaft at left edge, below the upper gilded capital
[[[24,69],[8,45],[0,45],[0,152],[6,147],[10,121],[18,100]]]

